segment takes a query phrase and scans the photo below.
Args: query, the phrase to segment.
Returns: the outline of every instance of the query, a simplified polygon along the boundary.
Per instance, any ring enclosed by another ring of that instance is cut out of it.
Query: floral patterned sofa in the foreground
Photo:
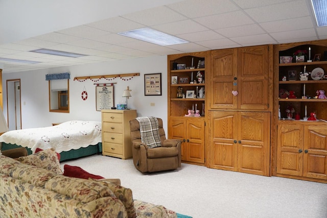
[[[106,180],[62,175],[52,149],[18,160],[0,155],[0,217],[149,216],[176,213],[133,200],[131,189]]]

